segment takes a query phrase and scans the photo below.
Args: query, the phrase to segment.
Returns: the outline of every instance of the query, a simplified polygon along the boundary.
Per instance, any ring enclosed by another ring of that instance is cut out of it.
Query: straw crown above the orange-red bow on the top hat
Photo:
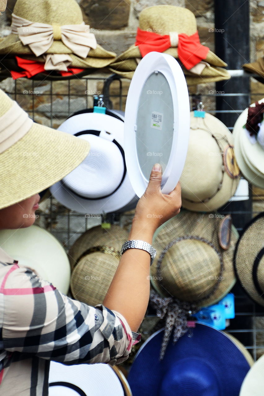
[[[197,31],[196,19],[190,10],[168,5],[145,8],[139,16],[139,27],[158,34],[177,32],[191,36]]]

